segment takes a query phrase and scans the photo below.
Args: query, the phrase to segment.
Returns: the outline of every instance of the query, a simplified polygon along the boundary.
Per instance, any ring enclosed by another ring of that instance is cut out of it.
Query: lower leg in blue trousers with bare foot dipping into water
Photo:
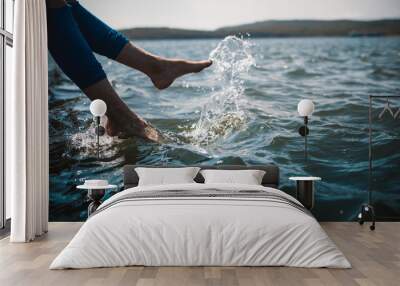
[[[91,99],[106,102],[110,135],[124,132],[159,141],[158,132],[132,112],[107,80],[100,63],[82,36],[71,8],[60,0],[48,1],[48,46],[54,60],[64,73]],[[60,4],[60,5],[59,5]]]

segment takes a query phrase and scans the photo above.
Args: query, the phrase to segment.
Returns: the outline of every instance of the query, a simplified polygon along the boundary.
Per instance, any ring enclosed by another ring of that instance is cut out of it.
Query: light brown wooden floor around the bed
[[[48,270],[81,226],[51,223],[49,233],[27,244],[0,241],[0,285],[400,285],[400,223],[322,223],[352,269],[289,267],[123,267]]]

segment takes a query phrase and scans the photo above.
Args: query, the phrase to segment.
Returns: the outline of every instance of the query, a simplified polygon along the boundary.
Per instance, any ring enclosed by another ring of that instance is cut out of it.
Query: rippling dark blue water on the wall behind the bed
[[[318,219],[356,219],[368,198],[368,95],[399,95],[400,38],[226,36],[131,39],[163,57],[213,61],[162,91],[143,73],[96,55],[112,88],[163,136],[156,143],[102,136],[99,159],[91,101],[49,56],[51,221],[85,220],[86,193],[76,186],[100,178],[121,189],[125,164],[265,163],[281,168],[281,189],[290,194],[290,176],[322,178]],[[297,131],[305,98],[315,103],[307,161]],[[400,118],[378,119],[385,103],[373,104],[372,198],[378,218],[399,220]],[[400,108],[400,100],[390,104]]]

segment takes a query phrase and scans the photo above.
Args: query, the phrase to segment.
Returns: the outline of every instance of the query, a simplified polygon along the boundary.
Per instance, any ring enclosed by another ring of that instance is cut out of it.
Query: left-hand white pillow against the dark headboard
[[[139,176],[138,186],[150,185],[170,185],[170,184],[188,184],[195,183],[193,180],[200,168],[135,168]]]

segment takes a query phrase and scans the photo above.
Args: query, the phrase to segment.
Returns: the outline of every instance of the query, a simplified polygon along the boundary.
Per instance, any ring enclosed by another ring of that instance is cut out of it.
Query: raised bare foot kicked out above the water
[[[148,74],[158,89],[169,87],[175,79],[188,73],[198,73],[212,65],[212,61],[184,61],[161,59],[159,68]]]

